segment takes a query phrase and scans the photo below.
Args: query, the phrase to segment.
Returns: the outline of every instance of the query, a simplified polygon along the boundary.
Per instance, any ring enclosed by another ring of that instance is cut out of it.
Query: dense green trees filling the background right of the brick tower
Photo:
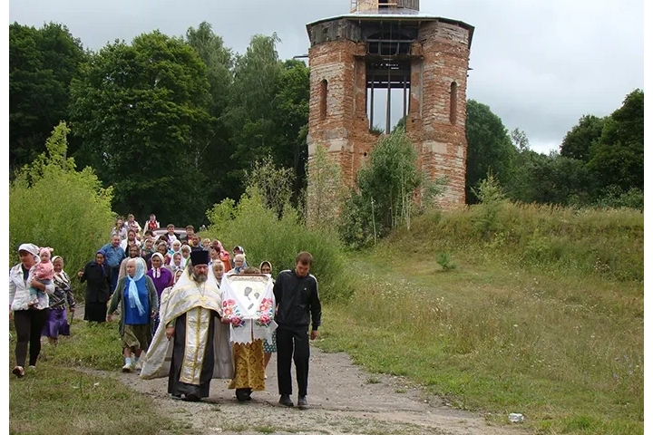
[[[641,90],[630,92],[605,118],[582,116],[565,135],[560,152],[550,155],[531,150],[522,131],[509,133],[488,106],[472,100],[467,105],[467,141],[468,203],[478,202],[473,188],[492,170],[515,201],[643,210]]]

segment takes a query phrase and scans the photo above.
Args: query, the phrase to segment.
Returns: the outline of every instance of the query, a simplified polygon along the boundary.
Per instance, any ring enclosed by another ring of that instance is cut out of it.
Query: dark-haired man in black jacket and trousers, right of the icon
[[[319,333],[317,327],[322,317],[322,305],[317,293],[317,280],[308,271],[313,264],[313,256],[300,252],[295,258],[294,270],[279,273],[274,285],[274,295],[278,312],[275,321],[277,329],[277,372],[279,403],[293,406],[291,362],[297,369],[297,406],[306,407],[308,389],[308,324],[313,319],[310,339],[315,340]],[[293,352],[294,351],[294,352]]]

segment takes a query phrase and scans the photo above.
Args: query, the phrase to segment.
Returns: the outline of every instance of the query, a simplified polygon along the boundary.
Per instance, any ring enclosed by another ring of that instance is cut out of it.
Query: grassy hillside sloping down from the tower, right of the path
[[[484,206],[364,254],[322,343],[541,433],[643,433],[641,213]],[[437,260],[455,268],[444,271]]]

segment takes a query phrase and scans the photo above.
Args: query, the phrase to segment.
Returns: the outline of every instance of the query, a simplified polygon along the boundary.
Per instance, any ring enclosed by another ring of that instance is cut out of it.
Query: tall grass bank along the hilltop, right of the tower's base
[[[485,205],[414,219],[397,231],[395,249],[419,247],[424,255],[467,250],[531,270],[574,271],[615,281],[644,279],[644,216],[638,210],[576,209],[510,202],[488,213]],[[492,232],[487,233],[487,219]],[[428,237],[422,237],[422,235]]]

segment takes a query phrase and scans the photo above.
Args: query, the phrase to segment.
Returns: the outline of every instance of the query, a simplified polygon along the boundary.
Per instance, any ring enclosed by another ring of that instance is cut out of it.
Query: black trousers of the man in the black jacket
[[[279,394],[292,394],[291,362],[297,370],[297,390],[306,396],[308,390],[308,345],[307,327],[277,329],[277,377]]]

